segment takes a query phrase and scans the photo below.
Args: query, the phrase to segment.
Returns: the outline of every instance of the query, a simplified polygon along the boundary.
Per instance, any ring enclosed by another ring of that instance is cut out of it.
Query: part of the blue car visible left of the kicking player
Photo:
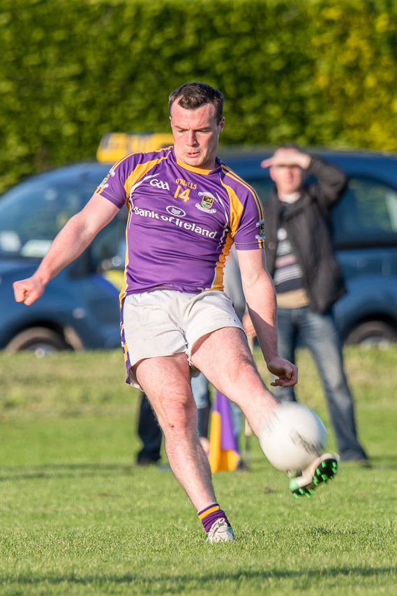
[[[84,207],[107,170],[98,163],[63,167],[23,181],[0,199],[0,348],[43,355],[120,345],[119,292],[106,277],[109,269],[116,269],[122,278],[123,209],[32,306],[17,304],[12,288],[13,281],[33,274],[51,241]]]

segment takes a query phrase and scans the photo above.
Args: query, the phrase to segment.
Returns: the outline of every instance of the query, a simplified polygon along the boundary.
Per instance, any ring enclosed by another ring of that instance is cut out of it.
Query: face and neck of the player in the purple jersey
[[[185,110],[175,102],[170,120],[177,158],[186,165],[214,170],[219,134],[225,126],[225,118],[218,124],[214,105],[206,103],[196,110]]]

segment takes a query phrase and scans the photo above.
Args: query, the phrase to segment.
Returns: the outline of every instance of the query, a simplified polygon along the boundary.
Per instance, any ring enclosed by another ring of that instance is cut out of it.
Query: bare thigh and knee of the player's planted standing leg
[[[170,429],[197,428],[186,354],[143,359],[134,367],[134,373],[165,433]]]

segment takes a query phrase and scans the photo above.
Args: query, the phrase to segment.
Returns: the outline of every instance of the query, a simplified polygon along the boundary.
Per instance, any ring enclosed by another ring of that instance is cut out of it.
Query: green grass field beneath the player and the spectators
[[[346,362],[373,468],[341,464],[294,500],[255,440],[248,472],[214,475],[237,539],[211,546],[172,474],[135,466],[121,353],[0,355],[0,594],[397,595],[397,348]],[[298,364],[328,424],[306,352]]]

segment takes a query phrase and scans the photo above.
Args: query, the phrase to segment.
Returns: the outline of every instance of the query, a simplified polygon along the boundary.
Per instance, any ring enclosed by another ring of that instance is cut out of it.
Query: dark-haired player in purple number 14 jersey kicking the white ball
[[[257,373],[244,330],[223,292],[223,266],[233,242],[250,318],[267,367],[276,375],[272,385],[297,382],[297,367],[277,353],[261,202],[216,158],[225,125],[222,113],[223,96],[207,84],[188,83],[174,91],[174,147],[131,154],[116,163],[87,206],[59,232],[36,273],[14,283],[15,299],[32,304],[127,204],[121,290],[127,382],[146,392],[165,435],[171,468],[210,542],[232,540],[233,530],[216,502],[198,438],[190,372],[202,371],[237,403],[256,435],[280,407]],[[313,475],[306,472],[302,479],[305,489]]]

